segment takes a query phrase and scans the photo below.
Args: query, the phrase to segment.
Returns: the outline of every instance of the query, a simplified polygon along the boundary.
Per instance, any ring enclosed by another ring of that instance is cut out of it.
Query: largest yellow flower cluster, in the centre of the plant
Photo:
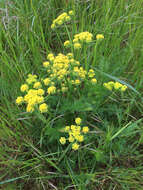
[[[72,85],[80,85],[86,77],[91,79],[92,83],[96,83],[94,70],[90,69],[88,72],[80,66],[80,62],[73,58],[72,53],[64,55],[59,53],[57,56],[50,53],[47,56],[48,66],[43,63],[43,66],[47,69],[48,76],[43,79],[43,83],[48,88],[48,94],[54,94],[56,92],[66,92],[68,91],[68,83]],[[56,86],[58,89],[56,89]]]

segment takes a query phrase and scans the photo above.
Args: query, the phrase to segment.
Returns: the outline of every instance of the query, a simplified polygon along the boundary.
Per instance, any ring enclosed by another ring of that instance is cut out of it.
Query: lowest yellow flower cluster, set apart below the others
[[[66,126],[64,128],[64,132],[68,133],[68,138],[65,137],[60,138],[60,143],[65,144],[68,140],[70,143],[72,143],[72,149],[78,150],[79,143],[84,141],[84,134],[87,134],[89,132],[89,128],[87,126],[81,127],[82,120],[81,118],[76,118],[75,123],[76,125]]]

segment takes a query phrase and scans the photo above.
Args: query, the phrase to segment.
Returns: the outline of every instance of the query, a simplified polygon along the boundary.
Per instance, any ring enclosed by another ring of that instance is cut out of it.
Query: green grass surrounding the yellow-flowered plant
[[[142,5],[141,0],[0,1],[1,189],[143,189]],[[73,21],[53,32],[53,19],[69,10]],[[124,81],[127,92],[108,96],[97,88],[95,107],[86,93],[74,101],[52,99],[58,103],[46,120],[18,107],[15,99],[27,74],[43,77],[47,54],[66,53],[63,42],[83,31],[105,39],[96,50],[77,53],[77,60],[93,64],[100,82]],[[49,126],[60,128],[78,114],[93,134],[75,152],[70,145],[63,148]]]

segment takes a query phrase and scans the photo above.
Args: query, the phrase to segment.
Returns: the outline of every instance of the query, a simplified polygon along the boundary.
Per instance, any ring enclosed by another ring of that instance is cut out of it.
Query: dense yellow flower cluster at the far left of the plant
[[[43,81],[43,80],[42,80]],[[22,97],[19,96],[16,99],[16,104],[20,105],[22,103],[25,103],[26,111],[27,112],[33,112],[36,107],[38,107],[39,111],[41,113],[47,112],[48,105],[44,103],[44,94],[45,90],[42,89],[42,81],[37,80],[37,75],[29,74],[25,84],[21,85],[20,90],[22,92],[26,92],[26,94]],[[49,81],[46,78],[43,83],[47,84]],[[50,82],[49,82],[50,84]],[[56,87],[50,86],[47,88],[47,93],[53,94],[56,90]]]

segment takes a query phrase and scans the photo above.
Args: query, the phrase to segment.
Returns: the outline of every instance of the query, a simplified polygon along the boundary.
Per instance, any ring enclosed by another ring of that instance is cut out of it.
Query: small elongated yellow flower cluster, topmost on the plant
[[[53,23],[51,25],[51,28],[54,29],[56,26],[60,26],[63,23],[70,21],[71,16],[74,14],[74,12],[71,10],[68,13],[64,12],[61,15],[59,15],[55,20],[53,20]]]

